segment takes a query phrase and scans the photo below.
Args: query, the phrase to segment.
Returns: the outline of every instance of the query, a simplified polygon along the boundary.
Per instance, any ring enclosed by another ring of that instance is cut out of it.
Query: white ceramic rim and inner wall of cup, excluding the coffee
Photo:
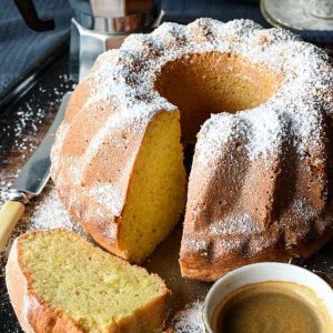
[[[292,264],[263,262],[236,269],[212,285],[203,305],[206,332],[214,333],[211,327],[214,311],[232,292],[248,284],[269,281],[297,283],[312,290],[326,306],[333,322],[333,290],[323,279]]]

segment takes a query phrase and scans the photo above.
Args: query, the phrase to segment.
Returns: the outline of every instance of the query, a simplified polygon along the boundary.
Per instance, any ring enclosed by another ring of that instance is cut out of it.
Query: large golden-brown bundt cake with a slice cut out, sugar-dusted
[[[332,93],[327,56],[287,31],[164,23],[100,56],[78,85],[52,178],[102,246],[141,262],[183,211],[180,135],[199,132],[182,274],[309,255],[332,235]]]

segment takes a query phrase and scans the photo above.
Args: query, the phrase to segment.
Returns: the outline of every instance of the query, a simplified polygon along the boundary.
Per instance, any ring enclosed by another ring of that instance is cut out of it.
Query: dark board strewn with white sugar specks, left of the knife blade
[[[29,160],[49,129],[62,94],[74,89],[67,74],[57,71],[3,109],[0,119],[0,195],[12,185],[19,169]]]

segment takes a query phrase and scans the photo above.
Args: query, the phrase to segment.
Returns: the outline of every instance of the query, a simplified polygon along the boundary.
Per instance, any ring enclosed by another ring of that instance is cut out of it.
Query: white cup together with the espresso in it
[[[292,264],[250,264],[212,285],[203,322],[208,333],[332,333],[333,291]]]

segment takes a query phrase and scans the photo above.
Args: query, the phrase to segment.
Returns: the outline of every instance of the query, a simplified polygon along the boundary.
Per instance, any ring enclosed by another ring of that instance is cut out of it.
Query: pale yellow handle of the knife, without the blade
[[[8,200],[0,210],[0,252],[6,249],[7,242],[24,213],[24,204],[19,201]]]

